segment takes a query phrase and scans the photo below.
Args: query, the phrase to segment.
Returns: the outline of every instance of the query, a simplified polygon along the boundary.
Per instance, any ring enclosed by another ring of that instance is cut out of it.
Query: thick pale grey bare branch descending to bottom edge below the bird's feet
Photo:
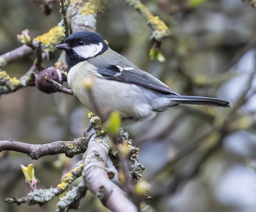
[[[108,209],[113,212],[137,212],[136,206],[125,193],[109,180],[104,170],[107,164],[109,147],[96,139],[90,139],[84,154],[83,180],[88,190],[96,194]]]

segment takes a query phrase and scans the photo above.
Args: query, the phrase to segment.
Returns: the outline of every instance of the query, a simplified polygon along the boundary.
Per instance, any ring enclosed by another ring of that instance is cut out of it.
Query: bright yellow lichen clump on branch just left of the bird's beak
[[[34,41],[41,42],[44,45],[44,49],[46,51],[52,51],[55,49],[57,44],[60,44],[65,39],[64,27],[55,26],[40,36],[37,36]]]

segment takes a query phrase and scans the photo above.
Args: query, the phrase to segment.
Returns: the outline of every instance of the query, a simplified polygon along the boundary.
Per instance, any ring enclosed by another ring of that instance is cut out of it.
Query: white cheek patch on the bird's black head
[[[89,58],[94,57],[101,52],[103,44],[90,44],[86,46],[77,46],[74,48],[74,52],[77,53],[80,57]]]

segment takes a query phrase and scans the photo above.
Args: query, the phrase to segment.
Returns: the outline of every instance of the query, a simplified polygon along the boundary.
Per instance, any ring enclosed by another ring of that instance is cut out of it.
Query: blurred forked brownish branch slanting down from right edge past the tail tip
[[[248,82],[246,83],[246,87],[244,87],[244,91],[241,93],[240,98],[236,101],[236,103],[234,103],[234,107],[216,116],[214,118],[214,127],[210,131],[202,135],[196,141],[180,149],[167,164],[162,166],[153,175],[153,178],[154,178],[158,176],[161,172],[166,170],[172,170],[172,172],[174,172],[172,182],[169,184],[169,186],[166,187],[165,193],[175,192],[176,188],[181,183],[196,176],[200,172],[200,169],[202,168],[203,164],[205,164],[207,159],[222,146],[222,142],[224,138],[229,133],[237,131],[237,129],[233,129],[232,123],[234,123],[237,119],[240,118],[240,116],[236,115],[236,112],[249,99],[248,92],[252,88],[252,83],[253,83],[255,73],[256,73],[256,63],[254,63],[254,70],[248,76]],[[254,95],[255,93],[256,91],[251,92],[250,96]],[[210,145],[207,145],[206,147],[201,148],[207,142],[207,140],[210,140],[210,137],[214,138],[214,141],[212,141]],[[201,150],[200,152],[202,152],[201,156],[199,156],[200,159],[196,161],[196,164],[194,164],[192,168],[190,168],[189,170],[183,170],[183,171],[178,170],[177,172],[175,172],[175,165],[180,160],[187,157],[190,153],[194,151],[197,151],[197,150],[199,151],[199,149]]]

